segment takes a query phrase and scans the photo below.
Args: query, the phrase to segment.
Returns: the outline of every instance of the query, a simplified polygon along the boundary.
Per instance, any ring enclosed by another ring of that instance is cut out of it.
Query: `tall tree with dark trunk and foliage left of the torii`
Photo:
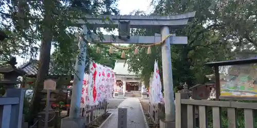
[[[11,55],[29,55],[28,58],[34,58],[40,48],[40,66],[32,99],[31,119],[40,111],[37,102],[40,101],[43,79],[49,71],[51,44],[59,52],[56,55],[56,58],[59,58],[57,61],[65,68],[65,72],[68,72],[72,58],[70,54],[76,54],[75,33],[81,28],[74,25],[75,19],[82,18],[86,22],[87,14],[117,14],[115,4],[116,0],[0,2],[0,27],[7,34],[10,33],[10,38],[1,44],[4,48],[0,52],[4,54],[0,53],[0,64]],[[87,27],[89,31],[99,33],[98,30]]]

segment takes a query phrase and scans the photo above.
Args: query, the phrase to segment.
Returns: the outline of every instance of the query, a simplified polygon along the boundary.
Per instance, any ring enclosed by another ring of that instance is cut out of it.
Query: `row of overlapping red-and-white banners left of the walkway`
[[[95,62],[90,63],[89,75],[84,75],[81,108],[88,105],[96,105],[104,99],[112,97],[116,84],[114,72],[110,68],[103,67]]]

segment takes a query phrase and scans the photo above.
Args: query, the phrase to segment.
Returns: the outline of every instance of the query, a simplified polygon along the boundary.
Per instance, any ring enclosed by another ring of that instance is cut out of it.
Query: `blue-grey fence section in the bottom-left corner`
[[[7,89],[6,96],[0,97],[0,126],[18,128],[22,126],[25,90]]]

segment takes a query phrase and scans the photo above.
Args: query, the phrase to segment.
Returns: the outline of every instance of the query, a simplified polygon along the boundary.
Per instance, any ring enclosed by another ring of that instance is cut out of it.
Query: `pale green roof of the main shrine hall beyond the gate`
[[[128,71],[128,63],[126,60],[116,60],[113,71],[116,73],[116,75],[136,76],[136,73]]]

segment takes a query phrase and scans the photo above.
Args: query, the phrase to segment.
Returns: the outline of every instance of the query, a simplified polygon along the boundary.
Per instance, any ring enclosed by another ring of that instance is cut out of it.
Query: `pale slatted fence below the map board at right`
[[[227,125],[229,128],[236,128],[237,113],[236,109],[243,109],[244,127],[254,127],[254,110],[257,109],[257,103],[236,102],[236,101],[211,101],[211,100],[190,100],[187,94],[176,93],[176,128],[194,128],[196,127],[195,115],[198,113],[199,127],[207,128],[222,126],[221,109],[227,110]],[[198,109],[196,109],[198,108]],[[208,121],[208,109],[212,110],[212,123]],[[209,126],[208,126],[209,124]]]

